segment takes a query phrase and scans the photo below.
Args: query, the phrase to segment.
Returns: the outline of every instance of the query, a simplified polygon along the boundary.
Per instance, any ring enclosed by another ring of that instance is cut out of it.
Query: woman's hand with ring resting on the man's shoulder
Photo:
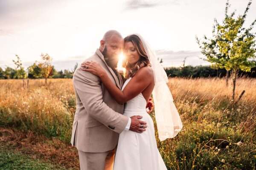
[[[102,77],[106,74],[105,70],[99,63],[94,61],[86,61],[81,64],[81,70],[88,71],[98,77]]]

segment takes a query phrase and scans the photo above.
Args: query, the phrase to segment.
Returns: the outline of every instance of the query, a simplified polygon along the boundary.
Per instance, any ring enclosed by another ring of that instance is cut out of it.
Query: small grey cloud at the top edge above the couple
[[[139,8],[152,8],[166,4],[179,5],[178,0],[129,0],[126,3],[125,9],[134,10]]]

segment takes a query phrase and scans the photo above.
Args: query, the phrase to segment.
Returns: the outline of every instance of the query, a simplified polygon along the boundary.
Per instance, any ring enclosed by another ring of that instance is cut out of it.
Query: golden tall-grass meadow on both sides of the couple
[[[256,79],[237,80],[236,99],[245,94],[236,105],[225,79],[170,78],[169,88],[183,130],[164,142],[156,130],[156,139],[170,170],[256,169]],[[72,79],[29,79],[25,88],[22,80],[0,80],[1,127],[69,146],[75,109]]]

